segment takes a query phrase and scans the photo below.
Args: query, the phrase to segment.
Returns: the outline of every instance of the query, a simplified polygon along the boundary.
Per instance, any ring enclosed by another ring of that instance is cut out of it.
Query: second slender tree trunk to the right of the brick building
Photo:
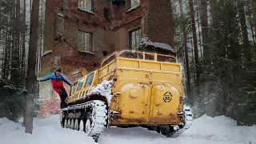
[[[192,33],[193,33],[193,44],[194,44],[195,72],[196,72],[195,87],[196,87],[196,91],[198,92],[199,78],[200,78],[200,71],[201,71],[199,66],[199,59],[198,59],[198,38],[197,38],[197,30],[195,28],[193,0],[189,0],[189,3],[190,3],[190,17],[191,17],[191,24],[192,24],[191,26],[192,26]]]

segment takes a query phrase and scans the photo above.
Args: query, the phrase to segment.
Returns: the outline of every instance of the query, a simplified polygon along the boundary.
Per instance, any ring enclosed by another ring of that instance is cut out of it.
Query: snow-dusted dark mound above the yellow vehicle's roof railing
[[[154,46],[156,48],[162,48],[165,50],[170,50],[173,53],[175,53],[174,49],[167,45],[166,43],[161,43],[161,42],[151,42],[149,38],[143,37],[142,41],[139,43],[139,46]]]

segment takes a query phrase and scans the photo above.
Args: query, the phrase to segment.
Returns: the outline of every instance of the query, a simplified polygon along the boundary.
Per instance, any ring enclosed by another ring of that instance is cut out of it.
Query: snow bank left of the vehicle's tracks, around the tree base
[[[93,138],[85,133],[62,129],[59,115],[46,119],[34,118],[33,134],[25,134],[25,127],[20,122],[0,118],[1,144],[92,144]]]

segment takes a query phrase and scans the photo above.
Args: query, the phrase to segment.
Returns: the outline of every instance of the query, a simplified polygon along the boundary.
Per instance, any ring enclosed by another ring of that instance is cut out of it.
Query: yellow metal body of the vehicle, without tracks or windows
[[[148,55],[152,57],[150,60],[146,60]],[[160,62],[158,57],[166,57],[174,62]],[[110,110],[119,114],[112,115],[110,125],[165,125],[182,122],[178,113],[182,112],[184,89],[181,64],[177,63],[176,58],[122,51],[106,58],[102,68],[94,73],[92,85],[85,87],[87,75],[84,76],[82,89],[71,94],[68,102],[85,97],[92,86],[114,78]]]

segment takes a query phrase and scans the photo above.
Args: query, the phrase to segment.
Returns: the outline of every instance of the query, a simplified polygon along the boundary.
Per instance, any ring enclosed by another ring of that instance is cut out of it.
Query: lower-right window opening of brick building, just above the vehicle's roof
[[[129,34],[129,42],[130,42],[130,49],[131,50],[137,50],[137,46],[139,42],[141,41],[142,34],[141,34],[141,29],[138,28],[136,30],[130,31]]]

